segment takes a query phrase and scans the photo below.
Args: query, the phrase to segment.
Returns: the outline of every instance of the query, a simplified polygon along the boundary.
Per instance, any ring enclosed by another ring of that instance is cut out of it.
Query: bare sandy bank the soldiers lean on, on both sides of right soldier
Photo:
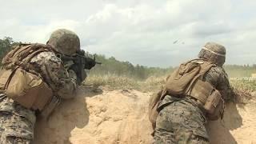
[[[37,144],[146,144],[152,142],[147,116],[150,93],[136,90],[81,88],[77,98],[62,102],[48,121],[39,120]],[[256,102],[226,106],[224,119],[209,122],[213,144],[256,141]]]

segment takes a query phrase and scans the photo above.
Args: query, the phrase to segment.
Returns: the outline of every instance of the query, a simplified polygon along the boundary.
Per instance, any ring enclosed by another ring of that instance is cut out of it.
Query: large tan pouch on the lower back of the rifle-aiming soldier
[[[0,77],[0,90],[20,105],[42,110],[53,97],[53,92],[40,75],[21,68],[5,70]]]

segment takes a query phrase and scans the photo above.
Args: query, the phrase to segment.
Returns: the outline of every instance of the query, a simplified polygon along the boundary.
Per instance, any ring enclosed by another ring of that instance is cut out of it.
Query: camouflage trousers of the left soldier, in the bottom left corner
[[[34,138],[34,111],[0,94],[0,143],[30,144]]]

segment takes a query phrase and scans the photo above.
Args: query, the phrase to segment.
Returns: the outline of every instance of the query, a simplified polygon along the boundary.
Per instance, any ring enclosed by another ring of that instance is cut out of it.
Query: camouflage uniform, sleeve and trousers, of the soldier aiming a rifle
[[[31,59],[30,64],[54,91],[55,96],[50,103],[74,97],[76,75],[72,70],[67,72],[61,59],[53,52],[39,53]],[[35,113],[6,97],[6,94],[0,94],[0,143],[31,143],[34,138]]]

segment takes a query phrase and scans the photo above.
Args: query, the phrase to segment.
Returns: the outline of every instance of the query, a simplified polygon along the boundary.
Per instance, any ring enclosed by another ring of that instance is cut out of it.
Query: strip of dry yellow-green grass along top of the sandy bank
[[[145,80],[138,78],[130,78],[127,76],[118,76],[116,74],[105,75],[89,75],[84,82],[87,86],[109,86],[113,89],[135,89],[135,90],[150,90],[154,91],[164,85],[166,76],[157,77],[150,76]],[[231,86],[239,90],[255,91],[256,81],[254,79],[232,79]]]

